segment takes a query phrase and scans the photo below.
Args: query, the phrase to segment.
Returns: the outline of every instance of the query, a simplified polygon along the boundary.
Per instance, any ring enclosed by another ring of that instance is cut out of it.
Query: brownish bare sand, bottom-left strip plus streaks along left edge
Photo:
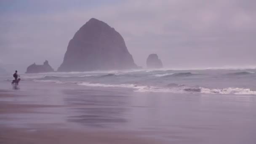
[[[0,90],[0,99],[6,97],[22,97],[11,94],[11,91]],[[35,109],[64,107],[45,104],[19,104],[17,101],[0,101],[0,115],[37,115]],[[68,107],[68,106],[66,106]],[[20,117],[16,117],[19,121]],[[13,120],[1,117],[0,120]],[[148,137],[141,137],[138,132],[109,131],[99,129],[70,129],[63,128],[61,124],[37,123],[29,128],[3,125],[0,123],[0,144],[159,144]]]

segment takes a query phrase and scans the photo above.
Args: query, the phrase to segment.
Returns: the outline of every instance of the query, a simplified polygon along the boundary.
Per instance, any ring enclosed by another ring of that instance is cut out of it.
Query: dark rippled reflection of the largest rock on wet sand
[[[83,90],[63,91],[63,93],[68,95],[65,99],[67,103],[76,106],[72,108],[72,112],[77,115],[68,117],[69,122],[102,128],[127,122],[124,115],[128,108],[124,106],[128,103],[128,96],[124,93],[113,95],[108,91]]]

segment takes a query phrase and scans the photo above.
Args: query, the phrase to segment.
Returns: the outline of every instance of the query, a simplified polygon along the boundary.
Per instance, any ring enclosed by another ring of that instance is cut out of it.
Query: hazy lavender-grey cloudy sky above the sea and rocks
[[[135,63],[157,53],[165,67],[256,67],[256,0],[0,0],[0,67],[57,69],[89,19],[119,32]]]

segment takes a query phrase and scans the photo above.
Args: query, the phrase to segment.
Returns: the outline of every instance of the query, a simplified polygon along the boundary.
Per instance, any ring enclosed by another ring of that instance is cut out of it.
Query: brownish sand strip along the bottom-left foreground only
[[[138,133],[74,131],[70,129],[0,127],[0,144],[160,144]]]

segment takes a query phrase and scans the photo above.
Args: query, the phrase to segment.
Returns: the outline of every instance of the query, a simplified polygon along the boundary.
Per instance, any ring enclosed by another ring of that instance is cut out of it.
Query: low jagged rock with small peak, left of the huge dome
[[[26,73],[41,73],[41,72],[54,72],[53,68],[50,66],[46,60],[43,65],[31,64],[27,67]]]

